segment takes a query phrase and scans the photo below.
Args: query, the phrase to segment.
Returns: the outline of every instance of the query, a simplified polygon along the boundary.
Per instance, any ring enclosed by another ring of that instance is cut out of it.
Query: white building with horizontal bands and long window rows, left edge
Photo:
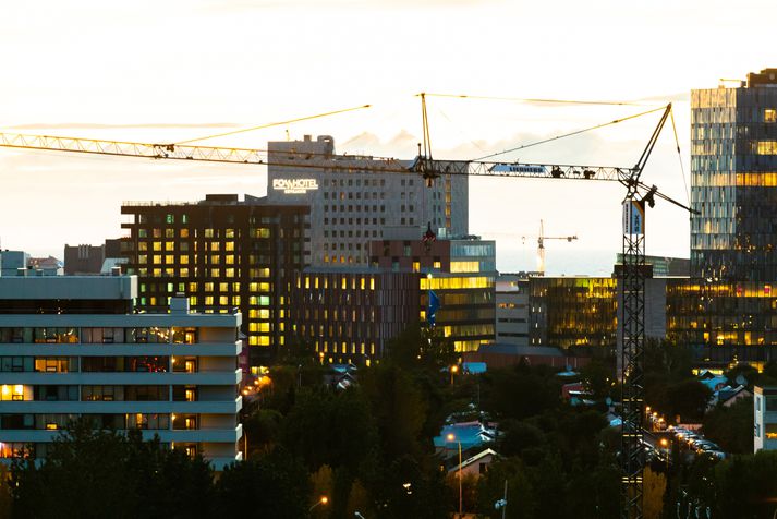
[[[0,461],[45,457],[77,417],[240,460],[241,314],[134,313],[134,276],[0,277]]]

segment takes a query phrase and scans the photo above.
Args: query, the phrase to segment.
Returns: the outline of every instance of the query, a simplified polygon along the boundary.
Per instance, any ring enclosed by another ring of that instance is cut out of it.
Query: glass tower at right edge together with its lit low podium
[[[691,279],[667,285],[667,334],[709,363],[777,353],[777,69],[691,93]],[[755,348],[754,348],[755,347]]]

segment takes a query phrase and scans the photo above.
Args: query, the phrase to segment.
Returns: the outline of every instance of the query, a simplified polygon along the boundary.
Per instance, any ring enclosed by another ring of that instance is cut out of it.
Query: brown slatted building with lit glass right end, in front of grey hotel
[[[420,236],[369,242],[369,267],[312,267],[298,276],[290,323],[326,362],[371,363],[391,341],[428,323],[456,351],[495,338],[495,243],[474,237],[424,243]]]

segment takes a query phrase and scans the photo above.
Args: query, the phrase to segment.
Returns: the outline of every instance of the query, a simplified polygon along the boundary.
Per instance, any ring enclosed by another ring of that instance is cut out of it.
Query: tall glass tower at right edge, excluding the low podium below
[[[691,92],[691,275],[777,281],[777,69]]]

